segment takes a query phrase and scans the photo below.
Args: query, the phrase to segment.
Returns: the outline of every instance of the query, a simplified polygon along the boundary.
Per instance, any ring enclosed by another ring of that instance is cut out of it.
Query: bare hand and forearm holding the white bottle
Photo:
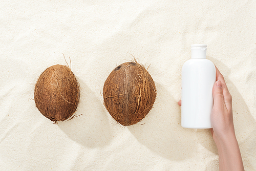
[[[244,170],[243,161],[234,132],[232,97],[223,75],[216,67],[216,82],[212,88],[214,106],[211,111],[210,129],[218,153],[220,171]],[[178,102],[181,105],[181,100]]]

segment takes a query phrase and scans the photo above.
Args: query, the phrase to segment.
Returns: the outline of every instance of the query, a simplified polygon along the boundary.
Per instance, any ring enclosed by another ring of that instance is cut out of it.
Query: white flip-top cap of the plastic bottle
[[[195,44],[191,45],[191,58],[192,59],[206,59],[207,45]]]

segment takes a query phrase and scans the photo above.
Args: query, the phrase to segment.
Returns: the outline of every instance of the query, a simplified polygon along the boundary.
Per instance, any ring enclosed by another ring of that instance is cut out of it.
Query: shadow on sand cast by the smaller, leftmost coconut
[[[80,79],[78,82],[80,101],[75,113],[77,117],[59,122],[58,126],[70,139],[83,146],[93,148],[108,145],[111,143],[113,132],[102,102],[86,83]]]

